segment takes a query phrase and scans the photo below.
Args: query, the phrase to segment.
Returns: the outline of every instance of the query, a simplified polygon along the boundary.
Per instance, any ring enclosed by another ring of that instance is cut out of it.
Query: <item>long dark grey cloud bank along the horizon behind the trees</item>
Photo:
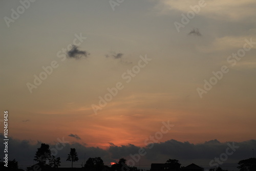
[[[69,136],[74,138],[78,137],[77,135],[72,135],[73,134],[70,134]],[[0,138],[4,139],[3,135],[0,135]],[[9,138],[9,160],[16,159],[18,164],[20,166],[23,165],[24,168],[33,163],[35,164],[33,159],[35,152],[37,151],[37,148],[40,147],[41,143],[44,142],[38,141],[36,144],[32,144],[29,140]],[[234,143],[236,146],[239,146],[239,148],[236,149],[236,152],[232,155],[228,156],[228,159],[220,166],[224,168],[225,165],[233,166],[232,168],[235,170],[238,161],[252,157],[252,148],[255,148],[256,146],[256,140],[223,143],[218,140],[211,140],[200,144],[193,144],[172,139],[161,143],[154,143],[152,148],[150,148],[149,145],[144,147],[146,155],[141,156],[141,165],[145,168],[150,168],[151,163],[164,163],[167,159],[171,158],[180,160],[182,165],[188,165],[194,162],[195,164],[207,168],[209,167],[209,162],[211,160],[214,160],[216,157],[219,158],[222,153],[226,152],[226,148],[228,147],[227,143]],[[50,148],[55,147],[55,143],[49,145]],[[1,143],[0,148],[4,149],[3,143]],[[67,143],[56,155],[56,157],[61,158],[62,167],[68,167],[70,165],[70,162],[66,161],[70,148],[76,148],[79,160],[74,164],[76,167],[80,167],[81,163],[84,163],[84,154],[86,154],[86,160],[89,157],[101,157],[104,164],[108,165],[110,162],[115,162],[122,157],[127,160],[131,159],[130,155],[138,154],[140,147],[133,144],[116,146],[115,144],[110,143],[109,148],[101,149],[99,147],[88,147],[85,144],[76,142]],[[0,157],[3,158],[3,155],[4,153],[2,151]],[[136,165],[137,164],[138,163],[136,163]]]

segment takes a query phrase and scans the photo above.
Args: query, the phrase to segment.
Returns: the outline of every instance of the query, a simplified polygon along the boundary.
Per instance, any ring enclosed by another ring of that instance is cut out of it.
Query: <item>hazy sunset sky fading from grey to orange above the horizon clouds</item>
[[[209,148],[225,151],[237,142],[247,144],[238,149],[244,155],[230,162],[252,157],[255,7],[253,0],[1,1],[0,111],[9,112],[12,144],[34,155],[39,142],[65,137],[87,158],[111,162],[162,135],[145,165],[169,156],[209,165],[223,153],[160,150],[173,143],[183,151],[213,141]],[[165,133],[164,123],[172,124]],[[112,154],[117,148],[127,153]]]

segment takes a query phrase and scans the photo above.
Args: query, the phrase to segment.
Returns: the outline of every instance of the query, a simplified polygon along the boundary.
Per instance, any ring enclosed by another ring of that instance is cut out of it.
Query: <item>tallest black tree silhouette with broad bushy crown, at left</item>
[[[48,144],[41,143],[40,148],[37,148],[34,160],[41,163],[46,163],[46,160],[49,160],[52,154],[49,147],[50,146]]]

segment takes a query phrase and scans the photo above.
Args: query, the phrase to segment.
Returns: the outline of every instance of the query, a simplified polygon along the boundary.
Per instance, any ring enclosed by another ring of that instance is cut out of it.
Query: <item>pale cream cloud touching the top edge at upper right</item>
[[[190,6],[199,4],[198,0],[163,0],[158,1],[159,7],[163,13],[178,10],[182,13],[191,11]],[[196,15],[202,15],[206,18],[214,18],[216,20],[243,20],[244,18],[254,17],[256,2],[254,0],[233,1],[233,0],[215,0],[205,1],[205,7],[200,8],[200,12]]]

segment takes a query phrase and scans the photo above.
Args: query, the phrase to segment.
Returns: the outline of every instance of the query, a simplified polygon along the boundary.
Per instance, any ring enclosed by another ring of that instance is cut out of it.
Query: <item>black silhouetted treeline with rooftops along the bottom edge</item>
[[[0,159],[1,160],[1,159]],[[75,148],[70,148],[70,153],[66,161],[71,162],[71,167],[59,167],[60,157],[55,157],[52,155],[50,146],[45,143],[41,143],[41,146],[37,148],[34,156],[34,161],[37,164],[27,167],[28,171],[44,171],[44,170],[86,170],[86,171],[186,171],[186,170],[204,170],[202,167],[197,166],[192,163],[186,167],[182,166],[179,160],[168,159],[165,163],[152,163],[151,169],[140,169],[135,166],[128,166],[126,164],[126,159],[120,158],[118,163],[113,163],[111,167],[104,165],[103,160],[100,157],[89,158],[84,165],[80,168],[73,168],[73,163],[78,161],[78,155]],[[256,171],[256,158],[249,158],[241,160],[238,162],[238,168],[240,171]],[[8,167],[7,167],[8,166]],[[190,166],[190,167],[189,167]],[[192,167],[194,168],[192,168]],[[195,168],[196,167],[196,168]],[[18,168],[18,162],[14,160],[9,160],[0,162],[1,170],[12,170],[12,171],[22,171],[23,169]],[[221,167],[211,168],[209,171],[227,171],[223,170]]]

